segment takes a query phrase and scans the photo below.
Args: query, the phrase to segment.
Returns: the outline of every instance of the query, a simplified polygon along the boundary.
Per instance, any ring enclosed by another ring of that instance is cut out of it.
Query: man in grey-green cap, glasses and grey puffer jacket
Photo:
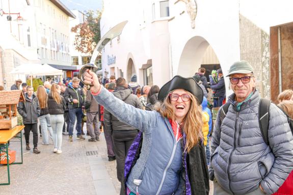
[[[227,74],[234,93],[220,108],[212,133],[209,176],[214,194],[272,194],[293,169],[293,136],[287,118],[272,103],[269,113],[260,118],[264,100],[253,72],[247,61],[239,61]],[[265,116],[269,143],[261,125]]]

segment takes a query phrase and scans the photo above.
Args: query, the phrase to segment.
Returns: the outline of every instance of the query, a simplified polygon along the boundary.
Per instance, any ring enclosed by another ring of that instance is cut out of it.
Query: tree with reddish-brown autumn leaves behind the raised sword
[[[86,13],[86,21],[71,28],[71,32],[76,33],[74,46],[82,53],[93,53],[93,50],[101,38],[100,19],[102,12],[93,10]]]

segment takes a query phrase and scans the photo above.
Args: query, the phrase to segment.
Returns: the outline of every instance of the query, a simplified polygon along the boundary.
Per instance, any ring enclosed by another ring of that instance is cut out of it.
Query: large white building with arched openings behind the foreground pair
[[[193,76],[206,52],[212,52],[216,58],[210,64],[220,64],[224,75],[233,62],[249,61],[262,96],[270,97],[271,29],[293,21],[292,5],[273,0],[106,1],[101,36],[128,23],[102,51],[103,75],[130,81],[137,74],[140,85],[162,87],[174,75]],[[228,95],[227,78],[225,83]]]

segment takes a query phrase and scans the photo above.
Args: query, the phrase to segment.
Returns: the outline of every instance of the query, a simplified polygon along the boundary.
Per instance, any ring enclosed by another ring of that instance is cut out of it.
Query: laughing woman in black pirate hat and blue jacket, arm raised
[[[203,92],[194,78],[174,76],[159,91],[155,110],[147,111],[109,93],[91,70],[84,77],[99,104],[140,130],[125,159],[120,194],[208,194]]]

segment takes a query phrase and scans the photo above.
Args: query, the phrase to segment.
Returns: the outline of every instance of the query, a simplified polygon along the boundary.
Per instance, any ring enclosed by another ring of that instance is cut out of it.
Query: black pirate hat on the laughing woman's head
[[[168,81],[158,92],[158,100],[164,101],[168,94],[176,89],[183,89],[192,93],[198,100],[199,105],[203,99],[203,91],[197,84],[193,77],[184,78],[176,75],[170,81]]]

